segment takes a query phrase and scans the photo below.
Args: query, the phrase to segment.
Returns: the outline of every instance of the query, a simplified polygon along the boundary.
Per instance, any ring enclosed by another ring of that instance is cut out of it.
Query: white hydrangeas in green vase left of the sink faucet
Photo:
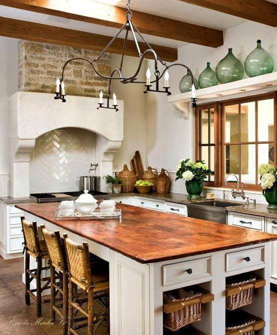
[[[192,162],[189,158],[181,159],[176,166],[175,180],[185,180],[188,199],[200,199],[205,178],[210,173],[211,171],[205,165],[205,161],[197,160],[196,162]]]

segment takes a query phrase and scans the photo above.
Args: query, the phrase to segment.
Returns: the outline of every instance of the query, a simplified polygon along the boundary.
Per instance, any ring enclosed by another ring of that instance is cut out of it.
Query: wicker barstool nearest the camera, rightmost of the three
[[[66,234],[63,235],[66,258],[68,264],[68,335],[79,335],[77,330],[87,326],[87,335],[94,335],[99,326],[106,322],[107,334],[109,330],[109,281],[108,264],[91,263],[88,244],[74,243]],[[75,294],[78,286],[82,293]],[[84,294],[86,297],[84,297]],[[87,311],[81,305],[87,302]],[[102,313],[95,313],[95,303],[103,309]],[[73,320],[73,310],[80,312],[84,318]],[[76,322],[87,320],[87,324],[76,325]]]

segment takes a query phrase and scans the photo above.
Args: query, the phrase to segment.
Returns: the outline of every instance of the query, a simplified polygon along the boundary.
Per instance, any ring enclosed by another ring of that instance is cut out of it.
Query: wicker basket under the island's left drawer
[[[185,291],[185,289],[183,289]],[[196,292],[188,298],[174,299],[171,302],[183,302],[200,297],[204,293]],[[168,301],[164,302],[164,304]],[[176,312],[165,313],[163,312],[163,326],[175,332],[178,329],[189,325],[193,322],[201,321],[201,304],[191,304],[181,308]]]

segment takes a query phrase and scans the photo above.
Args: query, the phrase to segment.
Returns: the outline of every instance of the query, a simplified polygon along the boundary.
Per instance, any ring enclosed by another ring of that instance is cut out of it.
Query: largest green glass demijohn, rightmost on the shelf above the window
[[[274,68],[272,56],[261,47],[261,40],[257,40],[257,47],[249,53],[244,61],[245,72],[249,77],[271,73]]]

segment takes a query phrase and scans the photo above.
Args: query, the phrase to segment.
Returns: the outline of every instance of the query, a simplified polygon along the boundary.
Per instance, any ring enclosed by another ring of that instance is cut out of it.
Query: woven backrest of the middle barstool
[[[40,226],[40,228],[52,266],[63,271],[66,269],[67,264],[64,244],[61,240],[59,231],[49,232],[44,225]]]

